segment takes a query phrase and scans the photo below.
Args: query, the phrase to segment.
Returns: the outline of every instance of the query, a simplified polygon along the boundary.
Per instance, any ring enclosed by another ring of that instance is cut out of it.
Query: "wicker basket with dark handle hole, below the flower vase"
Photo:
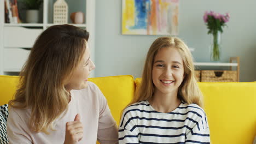
[[[236,82],[237,71],[232,70],[202,70],[201,81],[203,82]]]

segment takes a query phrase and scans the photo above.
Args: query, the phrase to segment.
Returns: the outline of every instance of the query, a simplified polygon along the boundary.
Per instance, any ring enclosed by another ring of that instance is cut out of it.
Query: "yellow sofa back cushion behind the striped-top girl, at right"
[[[141,78],[135,80],[136,88]],[[199,82],[211,143],[253,143],[256,135],[256,82]]]

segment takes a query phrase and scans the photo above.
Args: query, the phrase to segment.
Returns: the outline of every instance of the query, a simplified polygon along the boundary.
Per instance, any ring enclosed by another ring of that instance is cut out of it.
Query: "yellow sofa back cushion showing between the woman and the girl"
[[[132,75],[90,78],[108,100],[111,113],[119,125],[121,111],[130,103],[135,91]]]

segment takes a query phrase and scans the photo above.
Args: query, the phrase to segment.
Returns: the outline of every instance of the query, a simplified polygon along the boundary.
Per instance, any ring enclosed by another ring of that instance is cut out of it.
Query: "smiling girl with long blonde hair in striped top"
[[[175,37],[151,45],[139,90],[123,111],[119,143],[210,143],[188,46]]]

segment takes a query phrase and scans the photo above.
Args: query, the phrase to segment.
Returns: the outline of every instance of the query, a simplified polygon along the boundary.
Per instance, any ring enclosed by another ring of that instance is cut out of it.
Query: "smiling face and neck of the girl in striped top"
[[[177,93],[184,79],[183,59],[176,48],[163,47],[153,61],[152,80],[155,93]]]

